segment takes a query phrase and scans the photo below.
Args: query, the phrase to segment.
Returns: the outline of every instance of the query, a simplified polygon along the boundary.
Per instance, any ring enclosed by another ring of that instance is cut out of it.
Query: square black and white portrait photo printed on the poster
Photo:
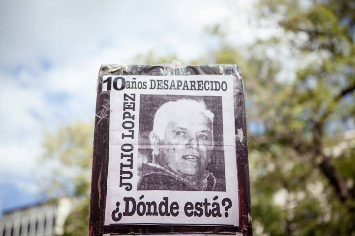
[[[137,190],[225,191],[222,97],[140,96]]]

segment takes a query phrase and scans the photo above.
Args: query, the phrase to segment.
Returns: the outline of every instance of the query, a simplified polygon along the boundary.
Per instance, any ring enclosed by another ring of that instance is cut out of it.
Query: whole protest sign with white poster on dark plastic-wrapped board
[[[102,66],[97,92],[90,235],[252,234],[237,66]]]

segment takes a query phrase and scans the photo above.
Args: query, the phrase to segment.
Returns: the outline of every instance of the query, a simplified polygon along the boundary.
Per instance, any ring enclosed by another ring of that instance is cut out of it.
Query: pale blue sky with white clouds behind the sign
[[[242,50],[275,33],[253,23],[253,3],[0,0],[0,211],[45,199],[43,134],[94,120],[101,64],[148,52],[198,58],[218,47],[204,30],[216,23]]]

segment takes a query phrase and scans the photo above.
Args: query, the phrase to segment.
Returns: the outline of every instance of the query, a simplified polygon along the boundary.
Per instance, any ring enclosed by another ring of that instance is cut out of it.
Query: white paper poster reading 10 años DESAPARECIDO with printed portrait
[[[105,225],[238,226],[233,76],[105,80],[103,91],[111,91]]]

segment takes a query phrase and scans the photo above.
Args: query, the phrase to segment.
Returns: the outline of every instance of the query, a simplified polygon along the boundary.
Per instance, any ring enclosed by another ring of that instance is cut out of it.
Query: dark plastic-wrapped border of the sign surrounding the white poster
[[[236,139],[238,173],[239,226],[221,225],[104,225],[106,185],[108,172],[110,93],[101,92],[104,75],[233,75],[234,77],[234,125],[243,130],[243,140]],[[91,181],[89,236],[103,234],[235,234],[252,235],[249,183],[248,143],[244,102],[243,79],[236,65],[179,66],[120,66],[106,65],[100,68],[96,102],[93,168]]]

